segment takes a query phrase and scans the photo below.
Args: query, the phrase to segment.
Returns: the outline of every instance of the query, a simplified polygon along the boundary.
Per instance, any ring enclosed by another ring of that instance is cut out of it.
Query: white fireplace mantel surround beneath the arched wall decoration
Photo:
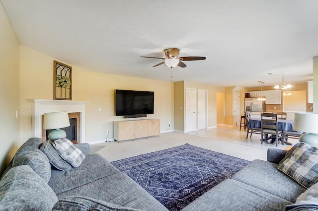
[[[32,104],[33,137],[42,137],[42,115],[49,112],[66,111],[80,113],[80,142],[85,142],[85,104],[88,101],[27,99]]]

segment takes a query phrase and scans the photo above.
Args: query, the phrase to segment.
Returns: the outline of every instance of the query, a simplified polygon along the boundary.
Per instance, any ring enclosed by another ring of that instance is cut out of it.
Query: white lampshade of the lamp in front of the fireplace
[[[70,126],[68,112],[45,113],[43,118],[43,129],[52,130]]]

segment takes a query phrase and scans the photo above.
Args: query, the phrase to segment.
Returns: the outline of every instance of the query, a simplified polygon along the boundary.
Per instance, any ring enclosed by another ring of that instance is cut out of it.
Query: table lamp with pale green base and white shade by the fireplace
[[[60,128],[65,128],[68,126],[70,126],[70,120],[67,112],[52,112],[44,114],[43,129],[55,129],[49,134],[50,141],[66,138],[65,131],[61,130]]]

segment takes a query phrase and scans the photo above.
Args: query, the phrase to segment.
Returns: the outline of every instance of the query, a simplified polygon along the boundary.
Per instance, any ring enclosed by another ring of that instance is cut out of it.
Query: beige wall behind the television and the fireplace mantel
[[[31,104],[27,99],[53,99],[53,61],[47,55],[26,47],[20,47],[20,104],[21,141],[32,137]],[[67,64],[65,61],[60,61]],[[115,89],[155,92],[155,114],[147,118],[160,119],[160,130],[173,130],[173,83],[121,75],[82,70],[72,64],[72,97],[75,101],[89,101],[85,110],[86,142],[105,140],[107,130],[113,139],[113,121],[123,120],[115,116]],[[102,111],[99,111],[99,108]]]

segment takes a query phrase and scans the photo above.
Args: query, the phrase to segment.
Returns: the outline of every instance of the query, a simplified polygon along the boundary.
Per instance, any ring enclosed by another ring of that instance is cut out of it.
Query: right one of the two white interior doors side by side
[[[198,130],[207,128],[208,90],[198,89]]]

